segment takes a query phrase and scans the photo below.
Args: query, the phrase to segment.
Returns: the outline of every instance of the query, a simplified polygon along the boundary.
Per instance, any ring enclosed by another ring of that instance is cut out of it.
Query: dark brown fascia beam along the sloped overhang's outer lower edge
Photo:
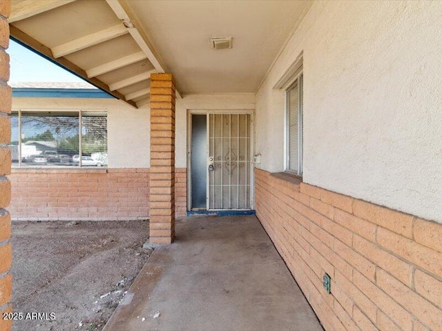
[[[88,78],[86,71],[79,68],[79,66],[75,65],[74,63],[70,62],[68,59],[65,59],[64,57],[61,57],[59,59],[55,59],[52,57],[52,52],[50,51],[50,48],[47,46],[44,46],[42,43],[37,41],[36,39],[30,37],[25,32],[19,30],[19,28],[16,28],[14,25],[10,24],[10,35],[12,38],[17,39],[17,41],[23,43],[28,48],[34,50],[38,54],[41,54],[41,56],[46,57],[49,61],[52,61],[59,66],[65,68],[66,70],[72,72],[73,74],[77,75],[78,77],[81,77],[85,81],[88,81],[88,83],[91,83],[93,86],[96,86],[97,88],[100,88],[109,94],[113,95],[117,99],[121,99],[123,101],[126,101],[129,105],[137,108],[137,105],[135,102],[130,101],[124,97],[124,95],[117,91],[111,91],[109,90],[109,86],[106,85],[106,83],[103,83],[97,78]]]

